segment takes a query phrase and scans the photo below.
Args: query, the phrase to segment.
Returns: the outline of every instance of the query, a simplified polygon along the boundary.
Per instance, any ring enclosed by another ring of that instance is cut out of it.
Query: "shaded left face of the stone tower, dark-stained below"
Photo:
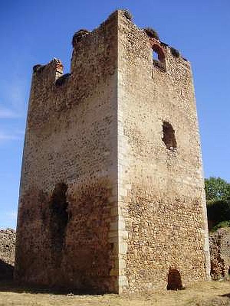
[[[35,66],[17,223],[15,279],[117,290],[117,14],[75,43],[71,75]]]

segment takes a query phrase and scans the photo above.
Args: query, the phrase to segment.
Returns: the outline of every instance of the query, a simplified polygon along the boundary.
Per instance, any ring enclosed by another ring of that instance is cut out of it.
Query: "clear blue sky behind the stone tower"
[[[70,68],[71,40],[118,8],[192,62],[204,173],[230,182],[229,0],[8,0],[0,2],[0,228],[16,226],[32,66],[52,58]]]

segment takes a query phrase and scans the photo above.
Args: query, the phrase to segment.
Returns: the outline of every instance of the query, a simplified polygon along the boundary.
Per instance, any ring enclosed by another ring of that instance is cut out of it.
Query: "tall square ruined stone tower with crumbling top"
[[[33,69],[15,279],[121,293],[209,278],[190,63],[116,11],[62,68]]]

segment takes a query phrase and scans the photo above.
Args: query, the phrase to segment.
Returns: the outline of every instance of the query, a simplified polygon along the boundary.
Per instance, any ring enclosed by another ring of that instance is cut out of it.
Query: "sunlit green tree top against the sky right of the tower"
[[[230,198],[230,184],[220,177],[210,177],[204,180],[206,201],[227,200]]]

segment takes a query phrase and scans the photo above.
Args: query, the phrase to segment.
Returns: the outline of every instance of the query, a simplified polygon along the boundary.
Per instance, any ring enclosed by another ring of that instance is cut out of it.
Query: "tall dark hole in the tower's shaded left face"
[[[56,252],[62,251],[65,242],[65,230],[68,223],[67,185],[56,185],[50,202],[50,234],[52,246]]]

